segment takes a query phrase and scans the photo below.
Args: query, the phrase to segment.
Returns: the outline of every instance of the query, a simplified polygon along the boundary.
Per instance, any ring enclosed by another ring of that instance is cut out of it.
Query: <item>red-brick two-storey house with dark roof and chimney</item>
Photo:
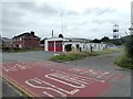
[[[23,33],[13,38],[13,47],[17,48],[39,48],[40,47],[40,37],[34,35],[34,32]]]

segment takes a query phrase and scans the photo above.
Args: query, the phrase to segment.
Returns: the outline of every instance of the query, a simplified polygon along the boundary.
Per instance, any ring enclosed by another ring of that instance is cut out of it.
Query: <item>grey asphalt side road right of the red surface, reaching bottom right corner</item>
[[[86,67],[96,70],[104,70],[112,74],[122,74],[123,80],[111,80],[112,88],[106,91],[102,97],[129,97],[131,96],[131,72],[119,68],[114,61],[120,53],[106,54],[101,56],[88,57],[85,59],[72,61],[68,64],[76,67]]]

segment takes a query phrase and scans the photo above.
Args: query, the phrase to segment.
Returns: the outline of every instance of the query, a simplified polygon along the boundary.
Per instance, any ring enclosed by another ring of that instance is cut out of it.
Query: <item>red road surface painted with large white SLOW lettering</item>
[[[2,76],[33,97],[98,97],[110,88],[108,75],[52,62],[2,64]]]

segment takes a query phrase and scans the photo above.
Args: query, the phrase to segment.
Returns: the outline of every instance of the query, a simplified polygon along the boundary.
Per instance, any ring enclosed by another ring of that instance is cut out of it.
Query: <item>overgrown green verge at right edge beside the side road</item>
[[[133,58],[127,57],[125,54],[121,54],[114,63],[120,67],[133,69]]]

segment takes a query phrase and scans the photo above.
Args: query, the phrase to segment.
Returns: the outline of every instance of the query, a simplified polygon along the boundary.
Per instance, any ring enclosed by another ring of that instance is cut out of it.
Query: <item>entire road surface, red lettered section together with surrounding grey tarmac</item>
[[[119,53],[69,63],[45,61],[54,54],[4,53],[2,76],[30,96],[131,97],[131,72],[114,65]],[[7,95],[6,89],[2,92]]]

